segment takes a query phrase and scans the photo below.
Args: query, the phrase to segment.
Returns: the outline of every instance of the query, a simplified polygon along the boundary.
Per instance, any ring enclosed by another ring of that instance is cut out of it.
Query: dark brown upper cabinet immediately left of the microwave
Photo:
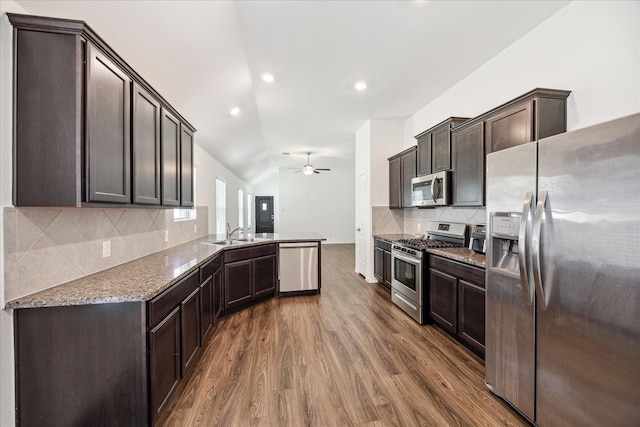
[[[416,146],[389,157],[389,208],[412,207],[411,178],[416,176]]]

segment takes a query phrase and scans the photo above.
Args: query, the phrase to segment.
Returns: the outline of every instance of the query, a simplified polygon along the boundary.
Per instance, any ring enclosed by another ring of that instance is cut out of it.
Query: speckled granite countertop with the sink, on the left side
[[[148,301],[227,249],[280,242],[326,240],[315,233],[240,235],[250,242],[216,245],[224,236],[208,235],[71,282],[8,301],[7,309]]]

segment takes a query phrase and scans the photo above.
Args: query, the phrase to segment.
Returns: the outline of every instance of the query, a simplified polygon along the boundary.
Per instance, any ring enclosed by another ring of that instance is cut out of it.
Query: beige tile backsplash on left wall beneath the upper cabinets
[[[208,234],[208,208],[4,208],[5,301]],[[165,241],[167,237],[167,241]],[[104,242],[110,255],[103,257]]]

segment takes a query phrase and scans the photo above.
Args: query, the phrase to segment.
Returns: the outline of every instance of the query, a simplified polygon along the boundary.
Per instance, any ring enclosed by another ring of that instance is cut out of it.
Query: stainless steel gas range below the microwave
[[[391,301],[419,324],[429,318],[429,248],[463,247],[468,242],[466,224],[427,223],[427,235],[391,245]]]

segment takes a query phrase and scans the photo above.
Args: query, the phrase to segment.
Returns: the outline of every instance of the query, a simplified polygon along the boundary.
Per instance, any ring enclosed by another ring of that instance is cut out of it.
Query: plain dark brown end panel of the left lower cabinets
[[[14,328],[17,425],[149,425],[146,302],[19,309]]]

